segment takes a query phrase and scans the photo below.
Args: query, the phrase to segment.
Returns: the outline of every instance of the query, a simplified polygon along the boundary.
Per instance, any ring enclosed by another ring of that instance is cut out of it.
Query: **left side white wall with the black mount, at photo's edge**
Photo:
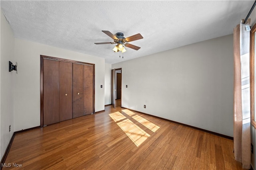
[[[14,35],[2,10],[1,14],[1,53],[0,53],[0,157],[10,142],[14,132],[14,84],[15,71],[9,72],[9,61],[14,60]],[[11,131],[9,132],[9,125]]]

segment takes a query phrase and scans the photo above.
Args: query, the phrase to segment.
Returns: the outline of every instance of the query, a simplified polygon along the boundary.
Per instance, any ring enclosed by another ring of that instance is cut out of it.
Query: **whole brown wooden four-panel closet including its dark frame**
[[[94,113],[94,64],[41,55],[41,127]]]

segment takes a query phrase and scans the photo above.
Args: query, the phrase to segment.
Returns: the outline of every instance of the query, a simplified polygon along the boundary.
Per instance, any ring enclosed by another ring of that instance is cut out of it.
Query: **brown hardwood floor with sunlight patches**
[[[242,169],[230,139],[120,106],[105,109],[16,134],[6,158],[11,167],[3,170]]]

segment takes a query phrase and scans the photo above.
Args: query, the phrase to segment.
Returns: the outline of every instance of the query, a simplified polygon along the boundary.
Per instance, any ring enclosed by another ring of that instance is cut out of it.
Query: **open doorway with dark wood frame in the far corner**
[[[112,105],[121,106],[122,100],[122,68],[112,70]]]

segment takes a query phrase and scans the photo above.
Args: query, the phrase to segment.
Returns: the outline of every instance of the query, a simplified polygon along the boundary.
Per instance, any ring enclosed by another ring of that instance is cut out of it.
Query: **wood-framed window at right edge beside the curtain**
[[[256,128],[256,116],[254,112],[255,108],[255,76],[256,76],[256,70],[254,69],[254,66],[256,65],[255,63],[255,53],[256,53],[256,39],[255,39],[255,34],[256,34],[256,24],[251,29],[250,33],[250,104],[251,104],[251,124]]]

